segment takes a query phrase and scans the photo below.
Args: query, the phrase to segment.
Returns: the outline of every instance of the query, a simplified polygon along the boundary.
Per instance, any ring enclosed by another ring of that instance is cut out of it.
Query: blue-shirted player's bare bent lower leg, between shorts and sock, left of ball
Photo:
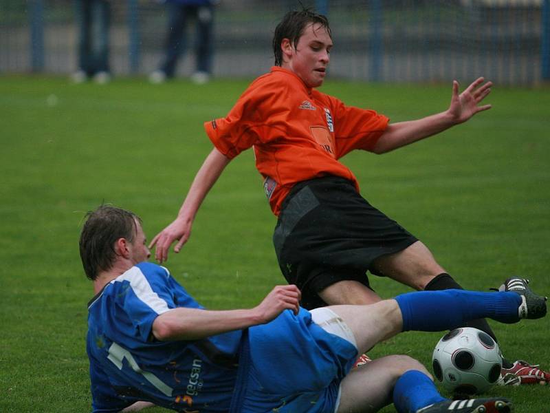
[[[375,359],[352,370],[342,380],[337,413],[377,412],[392,403],[395,381],[408,370],[428,374],[419,361],[404,355]]]

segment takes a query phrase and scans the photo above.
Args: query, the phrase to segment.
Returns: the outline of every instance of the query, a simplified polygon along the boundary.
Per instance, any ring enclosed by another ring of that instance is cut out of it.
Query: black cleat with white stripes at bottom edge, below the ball
[[[509,413],[511,401],[504,398],[445,400],[422,407],[416,413]]]

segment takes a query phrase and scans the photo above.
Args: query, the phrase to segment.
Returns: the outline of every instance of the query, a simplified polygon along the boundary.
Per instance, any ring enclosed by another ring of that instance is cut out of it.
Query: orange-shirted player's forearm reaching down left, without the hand
[[[212,149],[191,184],[184,204],[179,209],[179,217],[190,221],[195,219],[204,198],[229,162],[230,159],[218,149]]]

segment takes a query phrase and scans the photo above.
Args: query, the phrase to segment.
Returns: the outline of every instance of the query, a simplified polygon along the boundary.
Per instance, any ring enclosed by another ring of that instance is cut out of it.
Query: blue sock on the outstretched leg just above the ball
[[[516,323],[521,304],[516,293],[467,290],[417,291],[398,295],[395,300],[403,315],[403,331],[452,330],[485,317]]]

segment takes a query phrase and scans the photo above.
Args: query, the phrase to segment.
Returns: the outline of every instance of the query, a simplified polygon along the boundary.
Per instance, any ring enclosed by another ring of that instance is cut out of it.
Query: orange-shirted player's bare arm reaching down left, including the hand
[[[168,259],[168,249],[175,240],[178,240],[174,247],[176,253],[179,253],[181,246],[187,242],[191,235],[193,220],[195,220],[201,203],[229,162],[230,159],[215,147],[206,157],[179,209],[177,218],[155,235],[149,244],[149,248],[153,248],[156,244],[155,258],[158,262]]]

